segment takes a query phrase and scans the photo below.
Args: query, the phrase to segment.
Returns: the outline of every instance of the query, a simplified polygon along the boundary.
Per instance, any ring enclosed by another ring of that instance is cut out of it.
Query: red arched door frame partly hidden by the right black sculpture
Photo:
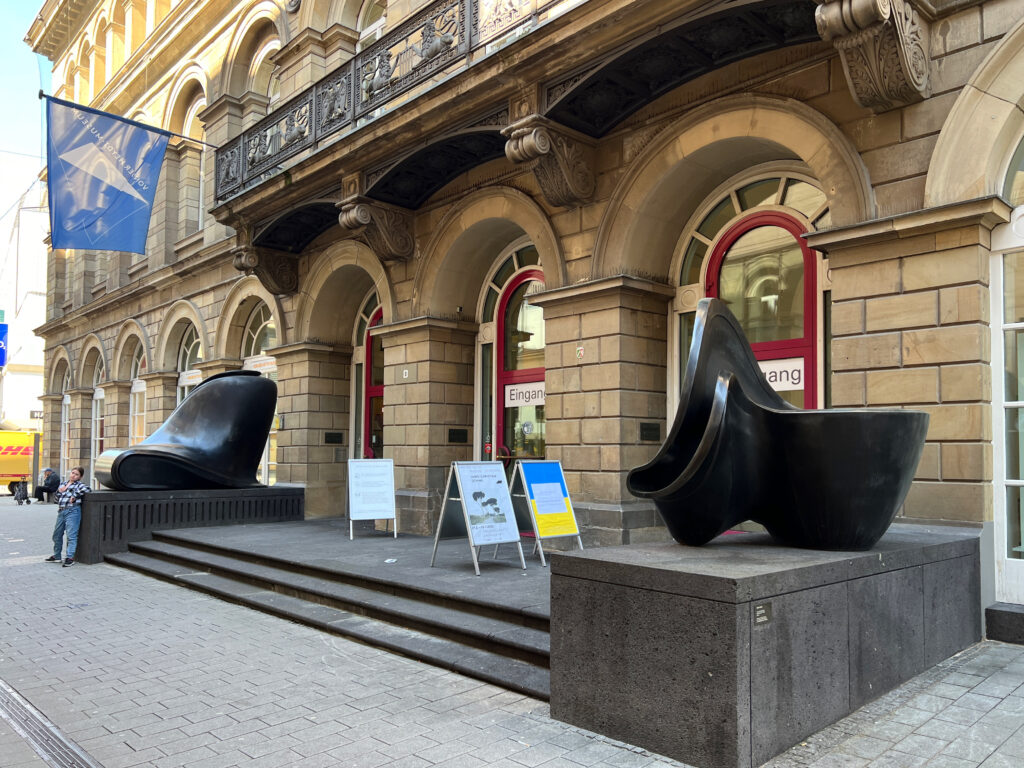
[[[818,366],[817,366],[817,276],[818,260],[814,251],[808,248],[803,234],[806,228],[792,216],[780,211],[763,211],[740,219],[730,226],[719,239],[708,261],[706,278],[707,295],[718,296],[719,276],[722,262],[740,237],[760,226],[777,226],[790,232],[804,257],[804,335],[797,339],[781,341],[763,341],[751,344],[754,356],[759,360],[774,360],[784,357],[804,358],[804,408],[814,409],[818,403]]]

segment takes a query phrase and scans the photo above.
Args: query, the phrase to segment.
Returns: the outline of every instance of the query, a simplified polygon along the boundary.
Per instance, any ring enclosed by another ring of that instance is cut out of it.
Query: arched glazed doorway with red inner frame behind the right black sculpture
[[[739,321],[768,381],[790,402],[817,408],[825,387],[818,365],[826,345],[820,312],[820,257],[801,237],[830,225],[824,193],[812,179],[775,167],[734,179],[712,196],[680,240],[676,299],[678,398],[705,296],[722,299]],[[675,407],[671,402],[671,407]]]

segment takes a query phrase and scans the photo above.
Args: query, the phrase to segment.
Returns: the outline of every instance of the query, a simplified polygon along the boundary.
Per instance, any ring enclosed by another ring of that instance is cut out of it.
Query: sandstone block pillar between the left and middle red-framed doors
[[[473,456],[476,326],[418,318],[375,331],[384,345],[384,455],[394,460],[398,529],[434,532],[453,461]],[[450,430],[465,442],[450,442]]]

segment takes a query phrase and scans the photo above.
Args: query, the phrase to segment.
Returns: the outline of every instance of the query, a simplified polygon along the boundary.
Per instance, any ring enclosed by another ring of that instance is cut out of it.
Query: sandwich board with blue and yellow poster
[[[511,493],[519,530],[536,537],[542,565],[548,564],[544,559],[545,539],[575,537],[583,549],[561,462],[516,462]]]

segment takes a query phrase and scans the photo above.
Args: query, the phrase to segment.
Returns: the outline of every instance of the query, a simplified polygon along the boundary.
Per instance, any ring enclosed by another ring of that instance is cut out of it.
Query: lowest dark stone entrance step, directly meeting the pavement
[[[133,545],[133,547],[136,545]],[[550,696],[550,673],[547,655],[517,651],[501,638],[495,637],[487,643],[467,644],[443,634],[422,631],[412,627],[392,624],[360,612],[346,610],[332,604],[324,604],[303,599],[287,592],[278,591],[276,586],[267,589],[246,579],[211,572],[205,565],[195,560],[173,560],[141,552],[110,554],[106,560],[123,567],[189,587],[230,602],[272,613],[323,631],[341,635],[352,640],[386,648],[411,658],[416,658],[444,669],[454,670],[470,677],[503,686],[529,696],[547,700]],[[267,575],[266,571],[263,572]],[[294,575],[294,574],[293,574]],[[424,609],[435,606],[424,604]],[[452,611],[458,613],[458,611]],[[459,616],[452,616],[453,618]],[[465,621],[459,617],[460,621]],[[498,629],[494,627],[494,629]],[[526,628],[518,628],[526,630]],[[513,627],[505,630],[514,634]],[[501,634],[499,630],[497,635]],[[536,640],[536,639],[535,639]],[[536,643],[540,645],[540,643]],[[546,644],[546,643],[545,643]],[[486,645],[487,647],[480,647]],[[540,658],[532,663],[527,655]]]

